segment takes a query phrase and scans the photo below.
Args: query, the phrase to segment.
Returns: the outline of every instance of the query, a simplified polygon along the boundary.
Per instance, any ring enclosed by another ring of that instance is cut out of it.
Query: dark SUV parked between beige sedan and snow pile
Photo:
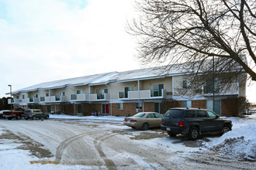
[[[192,140],[199,138],[199,134],[224,134],[232,128],[232,121],[199,108],[171,108],[162,120],[161,129],[171,137],[187,134]]]

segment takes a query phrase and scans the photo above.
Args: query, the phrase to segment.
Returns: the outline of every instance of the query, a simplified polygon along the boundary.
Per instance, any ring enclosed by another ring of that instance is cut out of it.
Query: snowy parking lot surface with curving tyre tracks
[[[170,138],[157,128],[140,131],[122,121],[106,120],[0,122],[0,145],[18,143],[16,149],[29,151],[29,159],[23,161],[28,165],[97,169],[253,169],[255,165],[207,151],[202,144],[218,138],[214,135],[188,141],[182,135]]]

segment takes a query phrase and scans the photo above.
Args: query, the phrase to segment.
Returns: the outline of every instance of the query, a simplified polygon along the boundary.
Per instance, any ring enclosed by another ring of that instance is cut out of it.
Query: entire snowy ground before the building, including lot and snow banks
[[[192,147],[189,147],[189,141],[184,140],[184,137],[178,135],[176,138],[169,138],[161,130],[134,131],[123,125],[124,117],[54,114],[46,121],[1,119],[0,169],[105,169],[112,165],[116,169],[218,169],[218,162],[223,162],[225,158],[227,165],[223,165],[223,169],[239,169],[244,165],[247,169],[254,169],[256,115],[228,118],[233,121],[233,131],[221,137],[202,137],[192,142]],[[22,130],[16,128],[17,124]],[[57,131],[51,131],[51,127]],[[71,131],[73,127],[76,131]],[[30,131],[33,129],[34,131]],[[85,129],[89,131],[83,132]],[[40,133],[36,134],[36,131]],[[54,133],[56,136],[46,135],[47,133]],[[79,153],[79,148],[73,148],[73,141],[95,158]],[[85,141],[92,142],[92,147],[84,145]],[[118,146],[120,142],[123,146]],[[67,154],[67,151],[71,152]],[[89,162],[72,163],[72,156],[78,156],[74,160],[84,156]],[[202,157],[209,158],[209,161],[200,163],[199,158]],[[95,161],[96,158],[99,158],[99,162]],[[182,160],[186,163],[181,165]],[[214,160],[216,163],[213,163]]]

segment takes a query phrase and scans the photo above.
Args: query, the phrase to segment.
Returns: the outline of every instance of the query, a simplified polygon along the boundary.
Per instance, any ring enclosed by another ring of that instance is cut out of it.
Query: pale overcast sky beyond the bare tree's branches
[[[0,0],[0,97],[36,83],[140,69],[133,0]],[[248,90],[247,90],[248,91]],[[254,95],[251,95],[254,93]],[[256,102],[256,89],[247,93]]]

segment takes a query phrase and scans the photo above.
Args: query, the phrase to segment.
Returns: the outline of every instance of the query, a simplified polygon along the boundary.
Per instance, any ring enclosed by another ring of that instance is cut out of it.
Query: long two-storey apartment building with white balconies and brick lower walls
[[[193,97],[181,96],[188,88],[179,69],[164,70],[163,66],[102,73],[66,80],[39,83],[12,92],[12,104],[41,108],[44,112],[91,115],[99,112],[113,116],[156,111],[164,114],[169,107],[200,107],[213,109],[213,90],[202,86]],[[229,90],[215,94],[217,114],[236,116],[237,98],[245,97],[246,75],[230,82]],[[9,94],[9,93],[6,93]],[[11,100],[9,100],[11,104]]]

